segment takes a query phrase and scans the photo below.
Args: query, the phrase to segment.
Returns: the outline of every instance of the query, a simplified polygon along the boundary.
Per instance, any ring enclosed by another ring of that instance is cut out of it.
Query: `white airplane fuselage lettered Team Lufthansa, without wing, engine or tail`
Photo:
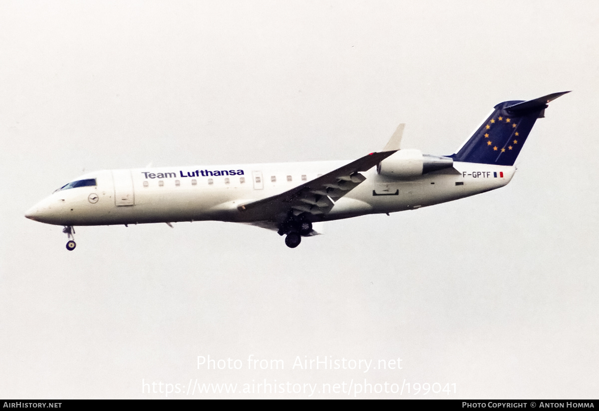
[[[237,207],[288,191],[344,164],[347,162],[103,170],[80,177],[96,179],[96,185],[56,191],[26,216],[65,226],[198,220],[252,223],[259,217]],[[465,162],[455,162],[453,168],[399,180],[380,176],[373,167],[364,172],[363,183],[339,198],[319,220],[444,203],[500,188],[515,173],[515,167]]]

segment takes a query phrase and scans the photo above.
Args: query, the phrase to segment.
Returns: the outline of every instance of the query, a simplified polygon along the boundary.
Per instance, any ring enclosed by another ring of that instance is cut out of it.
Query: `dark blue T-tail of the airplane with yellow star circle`
[[[449,156],[453,161],[513,165],[537,119],[544,117],[547,103],[568,91],[529,101],[504,101],[470,137]]]

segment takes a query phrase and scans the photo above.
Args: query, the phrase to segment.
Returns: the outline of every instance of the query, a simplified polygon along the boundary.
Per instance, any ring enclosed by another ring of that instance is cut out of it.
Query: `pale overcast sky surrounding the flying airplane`
[[[596,2],[3,1],[0,27],[0,397],[597,396]],[[23,217],[84,172],[352,160],[400,122],[447,155],[498,102],[564,90],[506,188],[293,250],[196,222],[76,228],[68,252]],[[264,382],[302,391],[243,394]]]

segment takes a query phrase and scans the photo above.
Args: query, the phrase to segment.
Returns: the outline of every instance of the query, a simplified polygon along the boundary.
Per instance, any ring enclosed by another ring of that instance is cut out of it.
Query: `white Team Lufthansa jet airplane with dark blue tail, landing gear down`
[[[548,103],[569,92],[495,105],[455,153],[400,149],[400,124],[380,152],[351,161],[102,170],[63,185],[25,217],[74,226],[218,220],[285,235],[295,248],[322,222],[445,203],[507,185]]]

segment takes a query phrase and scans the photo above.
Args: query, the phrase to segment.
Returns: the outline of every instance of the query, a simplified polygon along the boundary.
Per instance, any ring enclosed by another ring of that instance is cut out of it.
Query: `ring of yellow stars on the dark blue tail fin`
[[[518,156],[520,147],[522,146],[518,141],[520,137],[518,120],[520,119],[496,116],[491,117],[486,123],[485,138],[483,138],[482,143],[491,152],[497,152],[495,162],[498,162],[501,156],[510,156],[514,159]],[[505,161],[505,159],[503,160]]]

